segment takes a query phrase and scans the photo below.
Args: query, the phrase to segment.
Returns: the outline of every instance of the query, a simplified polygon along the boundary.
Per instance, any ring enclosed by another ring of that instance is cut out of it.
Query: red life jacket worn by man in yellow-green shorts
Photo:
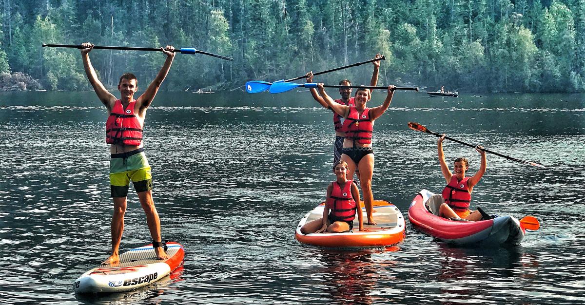
[[[124,109],[122,100],[117,99],[106,120],[106,143],[138,146],[142,142],[142,124],[134,114],[136,100]]]

